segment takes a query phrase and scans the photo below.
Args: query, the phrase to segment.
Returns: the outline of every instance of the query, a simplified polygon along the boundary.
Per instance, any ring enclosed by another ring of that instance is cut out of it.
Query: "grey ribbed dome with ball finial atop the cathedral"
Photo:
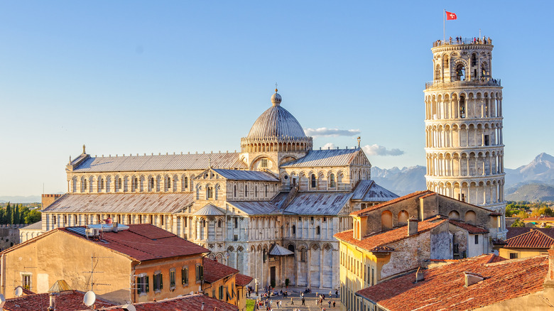
[[[286,109],[281,107],[281,95],[271,97],[273,106],[264,111],[254,122],[247,138],[305,138],[306,134],[298,120]]]

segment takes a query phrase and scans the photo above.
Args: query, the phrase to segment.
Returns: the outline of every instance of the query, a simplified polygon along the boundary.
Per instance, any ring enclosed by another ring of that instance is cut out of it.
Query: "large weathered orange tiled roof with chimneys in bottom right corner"
[[[357,292],[387,310],[470,310],[543,290],[548,257],[535,256],[495,262],[498,256],[482,255],[386,280]],[[469,287],[464,272],[484,280]]]

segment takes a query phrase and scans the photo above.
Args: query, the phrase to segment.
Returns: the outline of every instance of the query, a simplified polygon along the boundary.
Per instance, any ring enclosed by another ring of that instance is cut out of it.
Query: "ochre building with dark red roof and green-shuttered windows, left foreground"
[[[202,291],[202,246],[151,224],[89,228],[51,230],[1,252],[1,294],[45,293],[55,280],[121,304]]]

